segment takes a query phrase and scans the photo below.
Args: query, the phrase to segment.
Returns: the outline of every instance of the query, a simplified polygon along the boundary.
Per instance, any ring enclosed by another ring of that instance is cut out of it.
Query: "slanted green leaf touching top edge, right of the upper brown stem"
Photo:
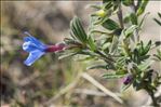
[[[149,0],[143,0],[143,2],[140,3],[140,5],[138,6],[138,10],[136,12],[137,16],[142,15],[145,12],[148,1]]]

